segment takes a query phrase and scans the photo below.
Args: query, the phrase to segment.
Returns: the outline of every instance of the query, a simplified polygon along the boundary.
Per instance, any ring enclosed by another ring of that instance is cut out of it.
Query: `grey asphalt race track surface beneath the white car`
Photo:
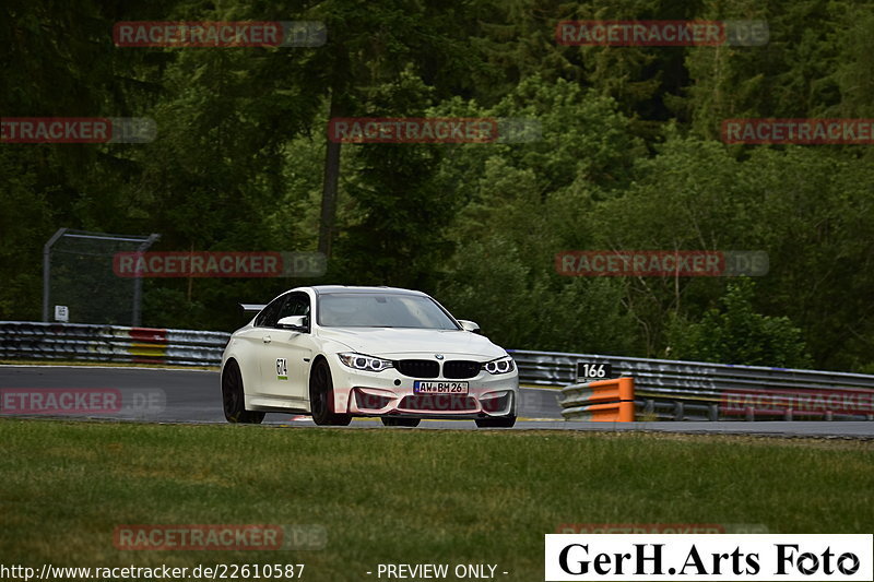
[[[103,366],[0,366],[0,390],[107,389],[121,394],[121,411],[72,413],[73,417],[115,418],[147,423],[225,423],[218,372]],[[874,421],[763,423],[568,423],[562,418],[556,390],[520,389],[519,421],[512,430],[558,429],[666,432],[712,432],[805,437],[874,438]],[[1,401],[0,401],[1,402]],[[2,406],[2,403],[0,403]],[[15,414],[0,408],[0,415]],[[265,424],[316,426],[308,417],[270,413]],[[350,428],[382,427],[378,419],[356,419]],[[420,428],[474,429],[472,420],[428,420]],[[397,428],[385,428],[397,430]],[[409,429],[408,429],[409,430]],[[506,430],[506,429],[504,429]]]

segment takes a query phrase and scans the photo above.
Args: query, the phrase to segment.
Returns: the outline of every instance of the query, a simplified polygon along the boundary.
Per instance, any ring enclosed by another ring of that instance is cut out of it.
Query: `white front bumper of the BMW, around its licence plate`
[[[354,416],[413,418],[486,418],[516,416],[519,373],[491,375],[481,370],[473,378],[411,378],[395,369],[365,372],[341,363],[331,364],[334,411]],[[468,382],[468,394],[416,394],[415,380]]]

